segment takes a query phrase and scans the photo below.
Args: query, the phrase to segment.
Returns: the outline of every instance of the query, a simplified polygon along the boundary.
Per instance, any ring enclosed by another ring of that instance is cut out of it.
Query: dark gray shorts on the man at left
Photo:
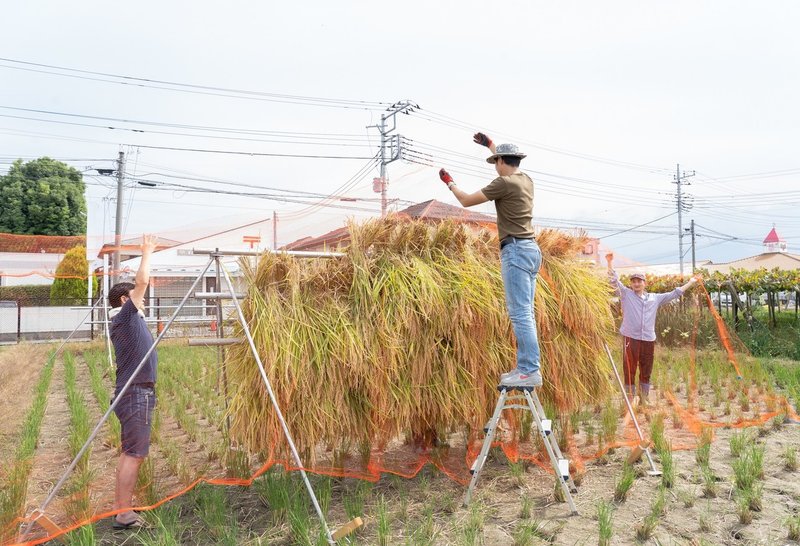
[[[122,425],[122,452],[145,458],[150,452],[150,427],[156,393],[153,387],[131,385],[114,408]]]

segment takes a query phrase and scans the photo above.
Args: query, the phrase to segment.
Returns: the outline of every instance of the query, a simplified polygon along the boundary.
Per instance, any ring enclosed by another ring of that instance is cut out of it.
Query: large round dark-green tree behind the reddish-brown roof
[[[0,177],[0,232],[21,235],[86,233],[86,198],[79,171],[49,157],[18,159]]]

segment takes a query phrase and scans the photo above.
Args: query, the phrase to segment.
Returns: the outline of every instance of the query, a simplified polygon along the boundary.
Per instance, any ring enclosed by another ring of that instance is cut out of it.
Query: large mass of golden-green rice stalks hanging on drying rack
[[[349,227],[345,258],[243,262],[244,314],[298,447],[313,460],[320,445],[383,450],[479,429],[515,364],[496,235],[399,217]],[[567,411],[609,391],[609,289],[576,260],[582,238],[537,240],[543,396]],[[285,445],[249,348],[228,351],[227,364],[232,435],[251,451]]]

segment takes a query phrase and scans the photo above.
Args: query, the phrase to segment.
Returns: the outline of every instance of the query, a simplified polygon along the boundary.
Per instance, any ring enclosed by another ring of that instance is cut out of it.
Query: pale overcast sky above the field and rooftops
[[[368,126],[409,100],[419,109],[394,133],[405,156],[388,166],[394,209],[457,205],[442,166],[467,191],[486,185],[494,171],[471,141],[483,129],[528,153],[538,225],[677,262],[680,163],[695,172],[683,220],[698,226],[698,259],[757,254],[773,224],[800,252],[797,2],[121,6],[15,2],[0,33],[0,172],[43,155],[85,170],[93,243],[111,238],[115,208],[114,179],[93,169],[120,150],[130,236],[185,241],[265,219],[252,230],[271,245],[276,211],[285,244],[374,216]],[[345,208],[310,208],[330,194]]]

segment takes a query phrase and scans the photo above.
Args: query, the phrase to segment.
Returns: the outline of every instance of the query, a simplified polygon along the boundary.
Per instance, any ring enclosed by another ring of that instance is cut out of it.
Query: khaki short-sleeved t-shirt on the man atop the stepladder
[[[522,172],[498,176],[481,190],[487,199],[494,201],[497,210],[497,235],[502,241],[507,236],[533,239],[533,180]]]

